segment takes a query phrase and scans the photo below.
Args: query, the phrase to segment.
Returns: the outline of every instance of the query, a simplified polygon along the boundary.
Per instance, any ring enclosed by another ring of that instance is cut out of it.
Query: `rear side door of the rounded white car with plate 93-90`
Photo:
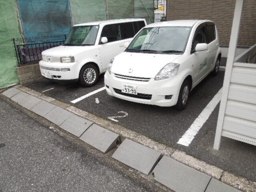
[[[218,51],[219,42],[216,38],[215,25],[212,22],[206,24],[206,34],[208,43],[208,59],[207,59],[207,73],[215,66],[215,57]]]

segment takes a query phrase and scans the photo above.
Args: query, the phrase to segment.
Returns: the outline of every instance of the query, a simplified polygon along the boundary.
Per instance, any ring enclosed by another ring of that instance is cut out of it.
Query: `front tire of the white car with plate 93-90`
[[[188,103],[189,92],[190,92],[190,84],[188,80],[185,79],[180,87],[178,101],[177,101],[177,104],[175,105],[176,109],[183,110],[186,108]]]

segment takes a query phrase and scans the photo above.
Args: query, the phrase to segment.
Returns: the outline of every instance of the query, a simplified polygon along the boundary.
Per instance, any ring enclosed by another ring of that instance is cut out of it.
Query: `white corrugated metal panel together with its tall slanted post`
[[[256,44],[235,57],[243,0],[236,1],[214,149],[221,136],[256,145]]]

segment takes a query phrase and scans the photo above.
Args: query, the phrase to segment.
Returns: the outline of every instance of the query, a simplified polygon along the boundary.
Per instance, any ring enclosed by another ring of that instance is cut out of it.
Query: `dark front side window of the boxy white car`
[[[108,38],[108,43],[121,40],[119,24],[111,24],[104,26],[102,29],[101,37]]]

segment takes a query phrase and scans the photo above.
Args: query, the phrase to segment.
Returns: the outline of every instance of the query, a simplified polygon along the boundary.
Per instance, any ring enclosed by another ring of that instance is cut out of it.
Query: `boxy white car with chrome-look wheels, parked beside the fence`
[[[42,76],[53,82],[93,86],[109,61],[124,51],[124,42],[146,25],[145,19],[119,19],[74,25],[62,46],[42,52]]]

